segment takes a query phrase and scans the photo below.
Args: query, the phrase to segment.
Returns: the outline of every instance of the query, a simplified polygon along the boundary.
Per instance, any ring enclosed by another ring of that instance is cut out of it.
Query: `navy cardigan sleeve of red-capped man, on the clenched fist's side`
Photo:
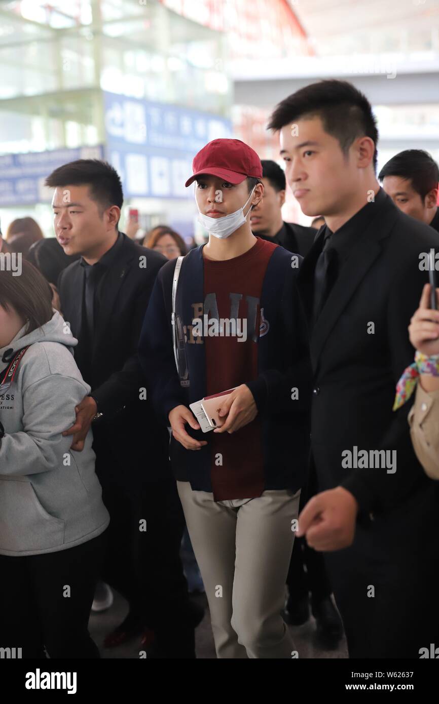
[[[247,382],[259,413],[291,413],[311,407],[307,323],[297,290],[298,270],[288,269],[280,301],[279,367],[264,370],[254,381]]]

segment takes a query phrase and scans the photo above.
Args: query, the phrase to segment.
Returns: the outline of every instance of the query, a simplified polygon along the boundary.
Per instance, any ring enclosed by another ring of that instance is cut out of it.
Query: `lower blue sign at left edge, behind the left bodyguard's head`
[[[0,155],[0,206],[50,201],[51,191],[44,180],[54,169],[76,159],[101,158],[102,146]]]

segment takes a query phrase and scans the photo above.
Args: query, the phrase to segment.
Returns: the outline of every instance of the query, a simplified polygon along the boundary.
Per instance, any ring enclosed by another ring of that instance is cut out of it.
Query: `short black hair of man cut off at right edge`
[[[439,168],[431,154],[423,149],[405,149],[392,156],[378,174],[383,181],[386,176],[399,176],[412,182],[412,187],[423,200],[439,184]]]

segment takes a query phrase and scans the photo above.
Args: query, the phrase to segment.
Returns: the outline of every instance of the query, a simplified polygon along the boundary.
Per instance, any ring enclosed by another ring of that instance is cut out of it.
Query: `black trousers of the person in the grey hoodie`
[[[0,647],[22,658],[99,658],[88,632],[105,532],[54,553],[0,555]]]

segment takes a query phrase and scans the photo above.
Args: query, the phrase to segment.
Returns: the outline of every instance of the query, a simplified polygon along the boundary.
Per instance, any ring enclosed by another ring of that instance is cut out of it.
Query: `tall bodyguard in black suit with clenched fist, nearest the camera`
[[[326,219],[299,275],[321,491],[299,535],[326,553],[350,657],[419,658],[439,636],[439,486],[414,455],[411,404],[392,405],[414,357],[407,326],[427,276],[419,255],[439,237],[380,189],[375,120],[351,84],[301,89],[270,127],[302,210]]]

